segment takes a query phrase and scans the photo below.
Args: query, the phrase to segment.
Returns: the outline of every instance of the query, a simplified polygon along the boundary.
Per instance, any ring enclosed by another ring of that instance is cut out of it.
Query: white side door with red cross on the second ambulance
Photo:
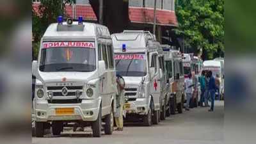
[[[149,65],[150,68],[154,68],[155,73],[150,76],[150,93],[152,93],[154,99],[155,110],[160,109],[160,80],[159,80],[159,65],[157,52],[149,54]]]

